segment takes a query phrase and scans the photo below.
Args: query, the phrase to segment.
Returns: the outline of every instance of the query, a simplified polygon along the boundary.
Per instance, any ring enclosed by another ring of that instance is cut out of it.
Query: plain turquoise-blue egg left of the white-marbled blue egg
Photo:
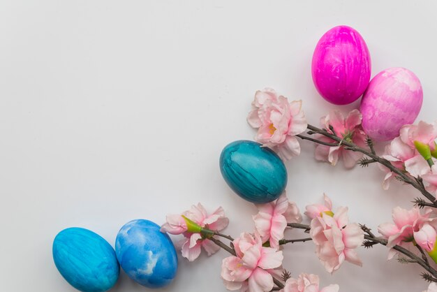
[[[84,228],[67,228],[53,241],[53,260],[62,277],[83,292],[103,292],[119,278],[114,249],[100,235]]]

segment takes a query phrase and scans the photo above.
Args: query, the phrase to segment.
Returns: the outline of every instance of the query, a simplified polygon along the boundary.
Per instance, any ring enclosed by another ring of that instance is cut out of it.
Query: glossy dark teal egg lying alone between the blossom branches
[[[252,203],[276,200],[286,189],[286,166],[260,143],[239,140],[227,145],[220,155],[220,170],[229,187]]]

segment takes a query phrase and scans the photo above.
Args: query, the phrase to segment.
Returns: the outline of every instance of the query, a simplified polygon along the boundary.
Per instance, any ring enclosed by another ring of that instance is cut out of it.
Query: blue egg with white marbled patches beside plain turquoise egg
[[[149,220],[133,220],[121,227],[115,241],[121,268],[147,288],[161,288],[176,276],[175,246],[160,228]]]

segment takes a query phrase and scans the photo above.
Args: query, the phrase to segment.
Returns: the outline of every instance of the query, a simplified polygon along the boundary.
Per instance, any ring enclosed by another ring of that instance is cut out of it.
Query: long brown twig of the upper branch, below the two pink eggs
[[[355,143],[349,142],[349,141],[347,141],[343,138],[340,138],[332,133],[329,133],[326,129],[320,129],[316,126],[312,126],[311,124],[308,124],[307,129],[310,130],[307,132],[309,135],[313,135],[315,133],[318,133],[318,134],[321,134],[327,138],[335,140],[337,143],[326,143],[326,142],[323,142],[323,141],[320,141],[317,139],[312,139],[312,138],[309,138],[308,136],[303,136],[303,135],[298,135],[298,137],[301,138],[302,140],[311,140],[312,142],[318,143],[321,145],[327,145],[327,144],[329,144],[327,146],[332,146],[330,144],[334,144],[334,146],[343,145],[344,149],[347,149],[347,150],[350,150],[353,152],[360,152],[366,156],[369,156],[374,161],[377,161],[378,163],[380,163],[383,166],[390,169],[393,173],[396,173],[398,175],[398,177],[403,182],[406,182],[406,184],[410,184],[412,187],[419,190],[429,201],[431,201],[432,207],[437,207],[436,197],[434,197],[431,193],[429,193],[429,191],[427,191],[424,188],[423,184],[421,184],[420,182],[417,182],[417,180],[415,180],[411,177],[408,177],[408,175],[403,173],[402,170],[399,170],[398,168],[393,166],[392,163],[390,163],[390,161],[388,161],[387,159],[383,159],[380,156],[376,155],[374,153],[375,151],[373,150],[373,145],[372,145],[372,147],[369,147],[370,150],[368,150],[368,149],[364,149],[362,147],[358,147],[357,145],[355,145]]]

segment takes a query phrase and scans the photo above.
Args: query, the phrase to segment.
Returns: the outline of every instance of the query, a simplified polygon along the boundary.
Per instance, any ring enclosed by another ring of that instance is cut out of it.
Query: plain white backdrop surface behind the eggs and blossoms
[[[251,139],[255,90],[273,87],[303,101],[306,117],[334,108],[311,80],[311,55],[331,27],[362,34],[372,76],[403,66],[420,78],[419,119],[436,118],[435,1],[0,1],[1,291],[75,291],[52,261],[52,240],[81,226],[114,244],[131,219],[202,202],[230,218],[226,233],[252,231],[253,205],[232,194],[218,168],[223,147]],[[338,107],[343,111],[357,108]],[[314,145],[288,161],[288,196],[301,210],[347,205],[374,230],[417,191],[381,189],[376,166],[345,170],[313,159]],[[382,148],[382,146],[380,146]],[[293,233],[294,234],[294,233]],[[295,233],[296,236],[305,236]],[[292,236],[292,235],[289,235]],[[340,291],[422,291],[417,265],[359,249],[359,268],[323,269],[311,242],[287,246],[285,268],[320,275]],[[161,291],[225,291],[225,251],[179,258]],[[113,291],[148,291],[122,272]]]

